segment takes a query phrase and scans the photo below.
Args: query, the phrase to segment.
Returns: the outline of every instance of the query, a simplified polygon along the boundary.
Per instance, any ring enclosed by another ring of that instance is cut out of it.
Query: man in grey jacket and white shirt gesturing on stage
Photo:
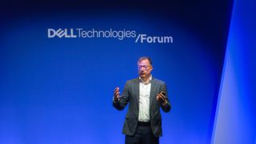
[[[123,110],[129,102],[129,109],[122,133],[126,144],[158,144],[162,136],[162,116],[170,111],[166,83],[153,78],[152,61],[149,57],[138,59],[138,78],[126,82],[120,95],[119,87],[114,89],[113,106]]]

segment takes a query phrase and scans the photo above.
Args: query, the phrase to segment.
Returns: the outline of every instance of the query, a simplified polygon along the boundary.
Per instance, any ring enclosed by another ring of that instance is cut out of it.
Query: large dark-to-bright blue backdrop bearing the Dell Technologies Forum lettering
[[[116,86],[153,60],[172,103],[161,143],[209,143],[230,1],[7,2],[0,143],[123,143]],[[218,12],[216,12],[218,9]]]

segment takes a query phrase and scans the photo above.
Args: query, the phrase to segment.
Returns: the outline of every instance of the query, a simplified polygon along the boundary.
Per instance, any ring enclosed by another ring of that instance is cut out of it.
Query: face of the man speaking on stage
[[[148,59],[143,59],[142,61],[138,62],[138,74],[141,78],[150,77],[151,70],[153,70],[153,67],[150,65]]]

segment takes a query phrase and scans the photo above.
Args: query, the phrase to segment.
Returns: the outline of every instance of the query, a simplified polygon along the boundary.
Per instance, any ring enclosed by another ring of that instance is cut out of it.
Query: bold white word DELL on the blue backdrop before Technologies
[[[77,35],[74,34],[73,29],[48,29],[48,38],[54,38],[55,36],[58,36],[58,38],[77,38]]]

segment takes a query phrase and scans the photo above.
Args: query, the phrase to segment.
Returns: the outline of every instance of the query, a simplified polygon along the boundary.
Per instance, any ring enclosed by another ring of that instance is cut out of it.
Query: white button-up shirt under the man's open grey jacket
[[[139,78],[139,109],[138,109],[138,121],[139,122],[149,122],[150,121],[150,89],[151,89],[151,79],[150,82],[143,82],[142,78]]]

